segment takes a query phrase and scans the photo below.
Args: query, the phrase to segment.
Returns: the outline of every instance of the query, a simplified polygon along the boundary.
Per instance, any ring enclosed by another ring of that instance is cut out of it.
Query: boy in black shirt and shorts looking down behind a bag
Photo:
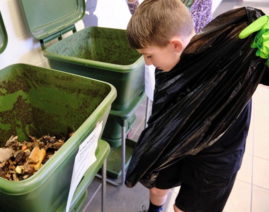
[[[191,16],[180,0],[145,0],[127,27],[130,46],[146,65],[163,71],[178,64],[194,35]],[[169,190],[179,185],[175,212],[221,212],[241,166],[250,116],[251,101],[217,142],[162,169],[150,189],[148,212],[161,211]]]

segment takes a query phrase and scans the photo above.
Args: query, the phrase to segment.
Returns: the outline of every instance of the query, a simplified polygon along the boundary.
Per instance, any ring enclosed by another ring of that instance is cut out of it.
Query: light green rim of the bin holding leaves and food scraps
[[[31,67],[37,67],[42,68],[39,66],[34,65],[28,65],[24,63],[17,63],[12,64],[7,67],[17,66],[17,65],[26,65]],[[5,67],[5,68],[7,68]],[[61,72],[66,75],[75,75],[66,73],[64,71],[58,71],[50,68],[42,68],[42,69],[49,69],[57,72]],[[1,71],[1,70],[0,70]],[[81,78],[91,79],[94,81],[99,81],[104,84],[108,84],[111,87],[111,91],[109,94],[103,99],[103,101],[98,105],[98,107],[95,109],[95,111],[81,124],[81,126],[75,131],[73,136],[71,136],[65,144],[68,143],[68,145],[63,145],[55,154],[58,155],[58,157],[54,157],[54,155],[31,177],[22,180],[22,181],[8,181],[7,179],[4,179],[0,177],[0,190],[1,192],[9,195],[22,195],[27,194],[35,189],[37,189],[40,185],[44,183],[44,181],[53,173],[55,169],[61,164],[62,161],[65,160],[66,157],[68,157],[68,153],[72,152],[78,145],[80,145],[81,142],[84,141],[88,135],[91,133],[91,131],[97,127],[97,125],[100,123],[100,121],[97,121],[103,114],[103,111],[106,109],[111,108],[111,103],[116,98],[116,88],[107,82],[75,75]],[[109,104],[108,104],[109,103]],[[108,105],[108,106],[105,106]],[[103,123],[104,124],[104,123]],[[98,148],[97,148],[98,149]],[[46,169],[44,169],[46,167]],[[14,186],[16,185],[16,186]]]

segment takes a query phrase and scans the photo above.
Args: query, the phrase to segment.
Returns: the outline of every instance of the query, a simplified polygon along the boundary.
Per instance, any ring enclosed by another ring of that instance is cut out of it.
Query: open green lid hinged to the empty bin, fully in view
[[[39,40],[78,22],[85,0],[19,0],[29,33]]]

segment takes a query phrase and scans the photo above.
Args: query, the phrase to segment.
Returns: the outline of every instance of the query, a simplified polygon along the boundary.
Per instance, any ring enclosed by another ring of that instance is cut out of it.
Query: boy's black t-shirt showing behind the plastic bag
[[[261,84],[269,86],[269,68],[264,72]],[[242,163],[251,118],[251,100],[223,136],[196,155],[184,157],[197,169],[216,176],[236,173]]]

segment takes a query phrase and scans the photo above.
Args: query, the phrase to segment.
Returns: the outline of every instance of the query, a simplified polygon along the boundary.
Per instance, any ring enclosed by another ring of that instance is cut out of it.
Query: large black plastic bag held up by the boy
[[[266,60],[250,48],[254,34],[239,33],[264,15],[244,7],[228,11],[195,35],[169,72],[156,70],[152,115],[140,135],[125,184],[155,185],[159,170],[218,141],[254,93]]]

